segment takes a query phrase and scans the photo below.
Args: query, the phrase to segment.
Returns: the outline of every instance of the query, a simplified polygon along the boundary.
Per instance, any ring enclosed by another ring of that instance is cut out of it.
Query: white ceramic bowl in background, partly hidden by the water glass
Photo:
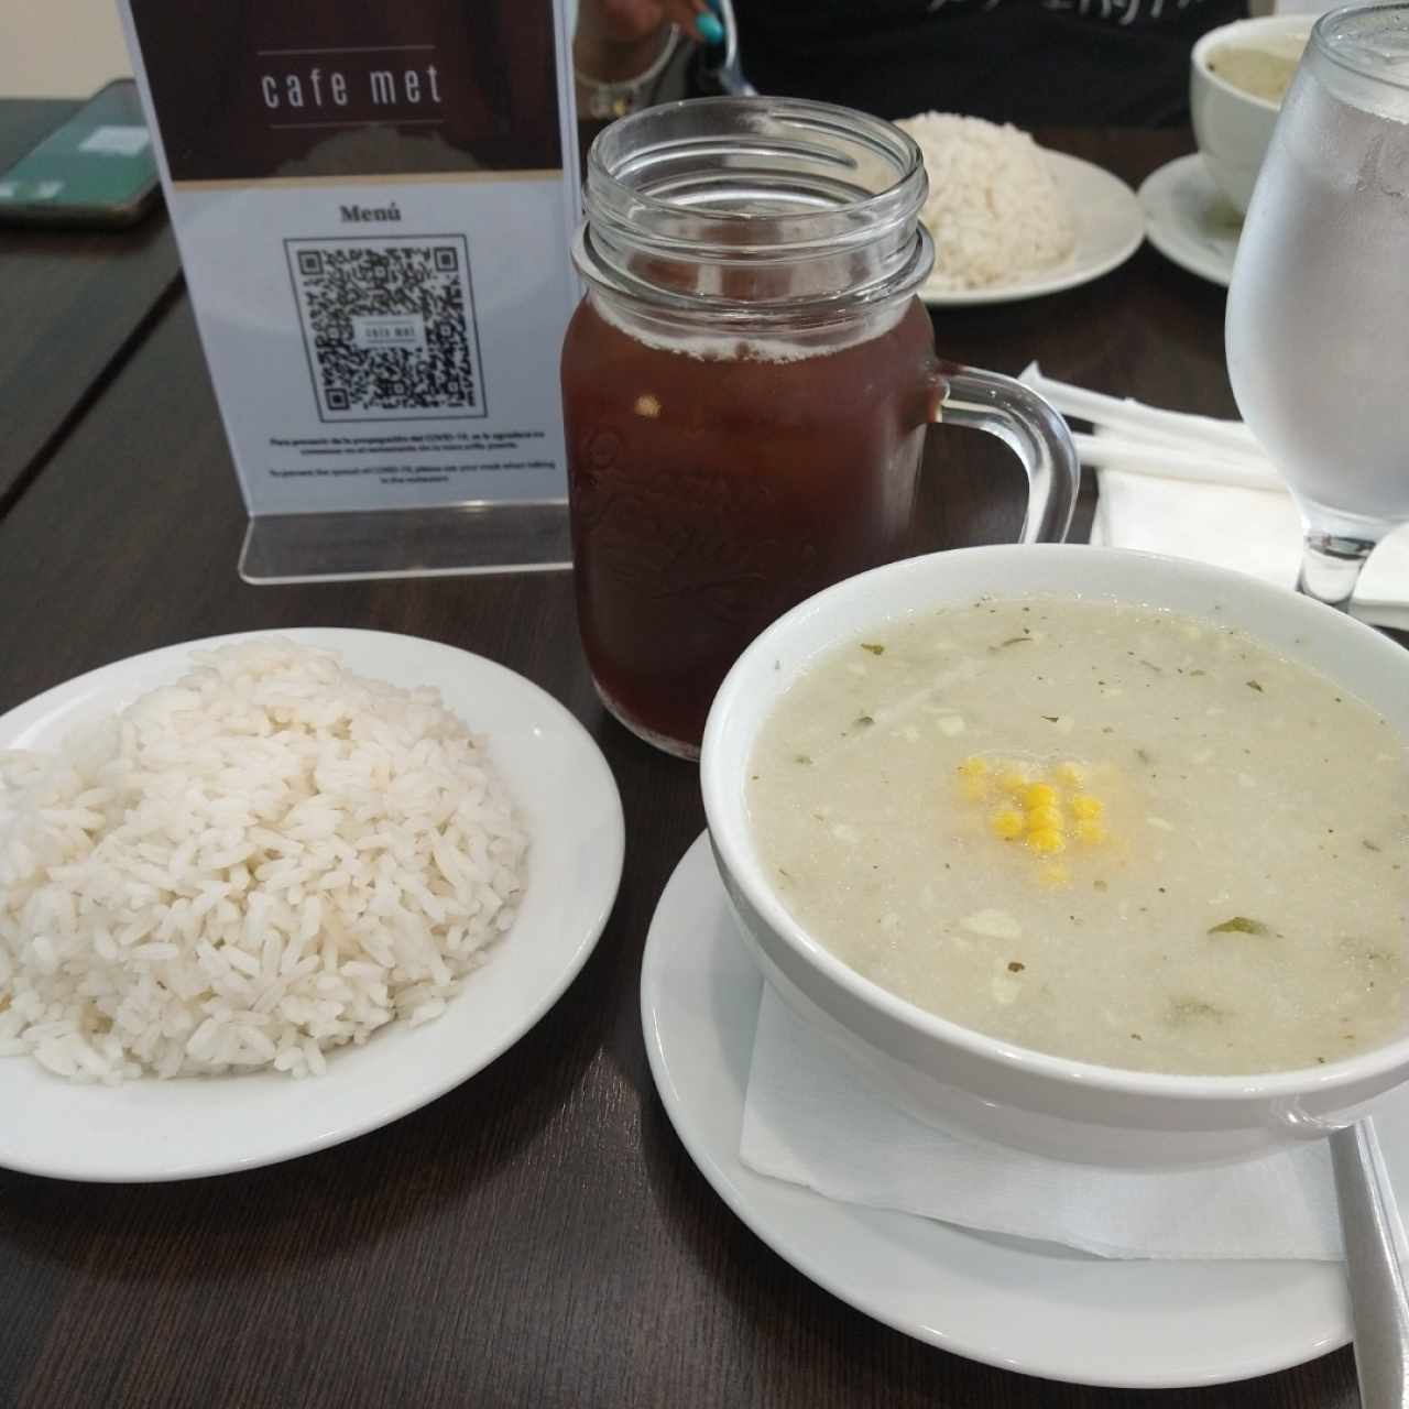
[[[1257,46],[1260,41],[1295,34],[1306,38],[1316,17],[1310,14],[1271,14],[1255,20],[1236,20],[1233,24],[1209,30],[1195,45],[1189,58],[1189,111],[1193,135],[1208,163],[1209,172],[1223,194],[1247,214],[1257,173],[1267,155],[1279,103],[1254,97],[1219,77],[1209,68],[1209,56],[1226,45]]]

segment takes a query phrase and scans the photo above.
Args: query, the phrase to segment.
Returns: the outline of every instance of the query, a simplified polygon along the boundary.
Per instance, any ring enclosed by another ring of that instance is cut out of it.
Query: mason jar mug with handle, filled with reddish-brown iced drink
[[[941,362],[919,148],[848,108],[699,99],[606,128],[562,352],[578,616],[606,707],[699,752],[714,690],[775,617],[907,548],[926,428],[1000,437],[1024,542],[1061,541],[1061,417]]]

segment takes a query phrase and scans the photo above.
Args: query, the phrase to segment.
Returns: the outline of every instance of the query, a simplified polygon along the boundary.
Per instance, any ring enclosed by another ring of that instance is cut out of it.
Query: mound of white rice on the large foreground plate
[[[527,837],[435,690],[283,640],[0,754],[0,1055],[118,1082],[437,1017],[513,923]]]

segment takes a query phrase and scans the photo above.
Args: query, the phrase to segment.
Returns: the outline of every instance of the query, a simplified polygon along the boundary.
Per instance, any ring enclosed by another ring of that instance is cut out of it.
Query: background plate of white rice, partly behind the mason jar
[[[1009,124],[921,113],[898,124],[919,144],[934,240],[930,307],[1009,303],[1109,273],[1144,240],[1136,193],[1091,162]]]

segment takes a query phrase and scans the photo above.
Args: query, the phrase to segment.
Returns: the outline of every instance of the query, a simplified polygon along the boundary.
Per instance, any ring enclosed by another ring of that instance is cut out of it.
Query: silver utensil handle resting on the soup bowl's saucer
[[[1405,1230],[1370,1120],[1330,1137],[1363,1409],[1409,1409]]]

